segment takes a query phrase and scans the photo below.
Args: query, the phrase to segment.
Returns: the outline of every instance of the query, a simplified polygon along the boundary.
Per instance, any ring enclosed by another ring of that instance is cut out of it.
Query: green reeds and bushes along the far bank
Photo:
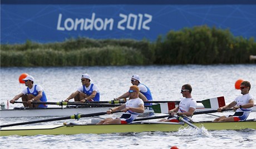
[[[253,37],[197,26],[170,31],[154,42],[78,37],[55,43],[1,44],[1,67],[240,64],[252,63],[250,55],[256,55]]]

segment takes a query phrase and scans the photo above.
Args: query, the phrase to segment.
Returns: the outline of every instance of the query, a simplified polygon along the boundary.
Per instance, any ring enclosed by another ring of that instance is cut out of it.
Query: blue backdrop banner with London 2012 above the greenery
[[[155,41],[202,25],[255,38],[255,24],[255,1],[1,1],[1,44],[77,37]]]

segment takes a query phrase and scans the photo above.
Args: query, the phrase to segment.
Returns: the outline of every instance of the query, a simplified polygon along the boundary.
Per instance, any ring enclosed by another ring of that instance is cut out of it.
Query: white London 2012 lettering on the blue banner
[[[141,30],[146,29],[150,30],[148,24],[152,21],[152,16],[150,14],[133,14],[129,13],[126,14],[119,14],[121,20],[117,22],[117,29],[125,30],[130,29],[134,30]],[[112,31],[114,27],[114,19],[113,18],[99,18],[96,17],[95,13],[92,13],[91,18],[66,18],[62,21],[62,14],[58,14],[58,23],[57,23],[57,30],[58,31],[77,31],[80,29],[81,31]]]

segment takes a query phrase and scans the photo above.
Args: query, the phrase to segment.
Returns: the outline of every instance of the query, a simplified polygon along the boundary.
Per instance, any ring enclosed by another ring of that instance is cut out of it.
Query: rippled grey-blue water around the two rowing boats
[[[24,85],[18,83],[21,73],[35,77],[35,83],[41,85],[48,101],[65,100],[81,85],[83,73],[90,74],[93,83],[100,88],[101,100],[109,101],[120,96],[131,86],[130,78],[139,74],[152,92],[154,100],[179,100],[180,88],[186,83],[193,87],[195,100],[225,96],[226,102],[232,102],[240,95],[234,89],[239,78],[252,84],[250,93],[256,97],[255,64],[239,65],[176,65],[176,66],[124,66],[124,67],[49,67],[49,68],[1,68],[0,102],[11,100],[21,92]],[[20,100],[21,101],[21,100]],[[9,105],[10,108],[21,105]],[[215,113],[221,115],[221,113]],[[255,118],[251,113],[249,118]],[[0,125],[7,123],[42,120],[47,117],[1,118]],[[48,117],[49,118],[49,117]],[[213,120],[214,116],[194,116],[196,120]],[[88,118],[80,119],[81,122]],[[67,121],[67,120],[66,120]],[[54,121],[48,123],[62,123]],[[209,131],[202,135],[194,130],[178,132],[143,132],[112,134],[78,134],[78,135],[38,135],[0,137],[1,148],[255,148],[256,131]]]

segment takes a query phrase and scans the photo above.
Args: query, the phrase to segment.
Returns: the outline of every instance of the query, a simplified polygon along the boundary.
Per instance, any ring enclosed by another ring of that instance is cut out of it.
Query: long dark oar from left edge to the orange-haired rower
[[[114,111],[112,113],[117,113],[121,111]],[[41,123],[41,122],[50,122],[50,121],[58,121],[58,120],[67,120],[67,119],[76,119],[78,120],[81,117],[91,117],[91,116],[100,116],[100,115],[106,115],[107,112],[99,112],[99,113],[90,113],[87,115],[72,115],[72,116],[67,116],[67,117],[59,117],[59,118],[51,118],[51,119],[46,119],[46,120],[38,120],[38,121],[30,121],[30,122],[21,122],[21,123],[13,123],[13,124],[7,124],[7,125],[1,125],[0,128],[2,127],[9,127],[9,126],[18,126],[18,125],[26,125],[26,124],[31,124],[31,123]]]

